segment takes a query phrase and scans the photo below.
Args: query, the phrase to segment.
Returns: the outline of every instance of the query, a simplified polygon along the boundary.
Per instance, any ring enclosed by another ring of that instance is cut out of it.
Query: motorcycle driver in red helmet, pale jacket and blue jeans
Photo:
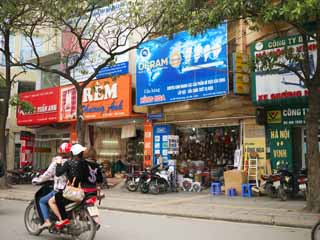
[[[49,219],[48,201],[56,193],[62,192],[67,182],[66,176],[64,175],[61,175],[59,177],[56,176],[56,166],[58,161],[64,163],[70,158],[71,146],[72,146],[71,143],[67,143],[67,142],[62,143],[59,147],[59,156],[56,156],[52,159],[52,162],[49,165],[48,169],[41,176],[32,179],[32,183],[34,184],[39,184],[39,183],[51,180],[52,178],[54,180],[53,191],[51,191],[47,195],[40,198],[40,201],[39,201],[40,210],[44,219],[44,223],[40,226],[41,229],[49,228],[52,225]],[[58,216],[60,215],[57,209],[52,209],[52,211],[56,215]]]

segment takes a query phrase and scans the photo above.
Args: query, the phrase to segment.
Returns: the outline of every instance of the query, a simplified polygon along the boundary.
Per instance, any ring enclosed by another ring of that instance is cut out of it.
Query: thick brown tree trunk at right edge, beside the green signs
[[[320,154],[318,145],[318,127],[320,118],[320,94],[317,87],[309,89],[309,112],[306,117],[307,126],[307,167],[308,196],[307,210],[320,211]]]

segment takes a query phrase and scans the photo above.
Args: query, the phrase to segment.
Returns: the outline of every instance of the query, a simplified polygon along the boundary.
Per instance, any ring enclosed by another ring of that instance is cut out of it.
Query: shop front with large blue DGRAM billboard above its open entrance
[[[152,124],[148,164],[173,163],[180,182],[223,181],[225,171],[248,167],[248,151],[260,151],[265,169],[265,131],[255,123],[255,107],[249,96],[229,92],[227,42],[222,24],[203,35],[151,40],[137,50],[136,111]],[[253,137],[264,141],[245,148]]]

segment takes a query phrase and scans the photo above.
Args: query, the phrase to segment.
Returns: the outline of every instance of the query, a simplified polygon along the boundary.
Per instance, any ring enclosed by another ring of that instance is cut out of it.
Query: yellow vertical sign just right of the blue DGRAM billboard
[[[235,52],[233,57],[233,91],[235,94],[249,94],[249,64],[248,55]]]

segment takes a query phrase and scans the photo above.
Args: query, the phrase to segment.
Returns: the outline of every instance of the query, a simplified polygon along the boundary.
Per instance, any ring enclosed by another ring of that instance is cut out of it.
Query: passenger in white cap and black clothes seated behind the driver
[[[78,187],[79,183],[85,194],[97,194],[97,183],[102,183],[102,174],[99,165],[95,161],[85,161],[83,153],[86,150],[81,144],[74,144],[71,147],[71,160],[57,164],[56,176],[61,176],[66,173],[69,182],[74,181],[74,186]],[[55,195],[55,202],[62,217],[62,221],[56,224],[57,228],[62,228],[70,223],[65,206],[70,203],[63,197],[62,192]]]

